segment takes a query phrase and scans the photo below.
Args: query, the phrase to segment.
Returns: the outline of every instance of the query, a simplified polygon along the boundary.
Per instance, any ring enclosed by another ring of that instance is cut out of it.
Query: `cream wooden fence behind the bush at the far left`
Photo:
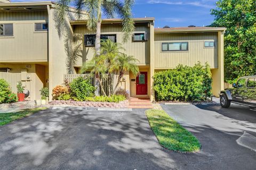
[[[10,87],[12,88],[12,92],[17,92],[17,82],[21,81],[21,73],[6,73],[0,72],[0,79],[6,80]]]

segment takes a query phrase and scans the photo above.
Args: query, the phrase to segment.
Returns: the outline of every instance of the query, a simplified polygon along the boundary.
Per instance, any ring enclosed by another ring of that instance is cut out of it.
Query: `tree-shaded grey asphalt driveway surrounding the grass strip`
[[[255,169],[255,143],[246,141],[255,136],[256,112],[241,109],[246,114],[238,120],[231,117],[238,111],[222,113],[219,106],[164,109],[198,137],[203,146],[200,152],[179,154],[159,146],[143,109],[47,109],[0,127],[0,167]]]

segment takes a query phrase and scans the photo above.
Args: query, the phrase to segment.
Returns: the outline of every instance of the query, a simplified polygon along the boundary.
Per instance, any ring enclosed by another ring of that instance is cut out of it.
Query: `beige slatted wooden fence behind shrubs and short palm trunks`
[[[92,85],[95,86],[95,77],[92,74],[64,74],[64,81],[67,81],[70,83],[78,77],[82,77],[84,79],[86,79],[86,78],[91,79]],[[101,78],[102,78],[102,76],[101,76]],[[107,78],[103,78],[103,79],[101,79],[101,81],[102,81],[103,89],[107,95],[109,94],[109,90],[108,90],[109,85],[111,87],[110,92],[113,92],[113,81],[111,81],[110,84],[108,83]],[[100,88],[100,95],[103,95],[101,88]]]

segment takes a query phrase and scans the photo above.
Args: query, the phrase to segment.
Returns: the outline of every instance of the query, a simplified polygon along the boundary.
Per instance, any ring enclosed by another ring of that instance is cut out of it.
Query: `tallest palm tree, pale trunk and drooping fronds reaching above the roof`
[[[134,0],[59,0],[58,1],[58,17],[60,22],[65,21],[66,11],[69,4],[73,3],[77,10],[78,19],[81,18],[83,10],[89,15],[87,20],[87,28],[89,30],[96,30],[95,39],[95,56],[100,55],[100,33],[101,33],[101,20],[102,14],[107,18],[114,18],[115,15],[123,19],[122,31],[123,43],[125,43],[131,37],[131,32],[134,30],[134,22],[132,20],[131,8],[134,4]],[[99,95],[98,83],[95,84],[95,94]]]

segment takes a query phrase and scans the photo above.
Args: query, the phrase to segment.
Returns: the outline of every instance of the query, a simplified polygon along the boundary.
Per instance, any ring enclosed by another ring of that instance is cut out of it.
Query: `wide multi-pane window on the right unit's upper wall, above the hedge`
[[[162,43],[162,52],[187,51],[188,43]]]

